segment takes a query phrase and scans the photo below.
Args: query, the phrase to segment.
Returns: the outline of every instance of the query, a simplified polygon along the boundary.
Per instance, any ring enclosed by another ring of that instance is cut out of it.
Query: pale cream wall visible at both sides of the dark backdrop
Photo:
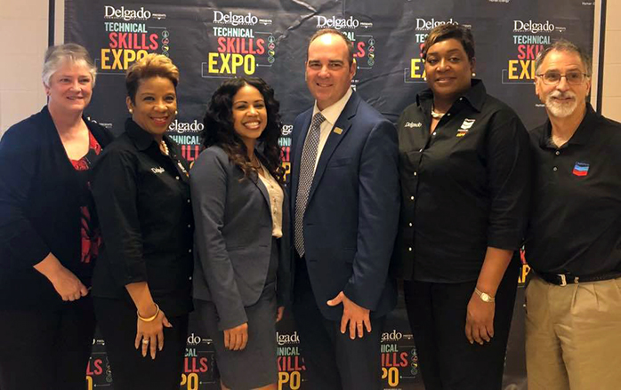
[[[607,4],[602,112],[621,122],[621,0],[608,0]],[[64,0],[56,0],[55,9],[58,44],[64,29]],[[0,60],[2,135],[13,123],[36,113],[45,104],[41,67],[48,40],[48,1],[0,0],[0,10],[0,36],[5,43]],[[595,19],[599,24],[599,17]],[[595,29],[599,30],[597,26]],[[593,68],[597,68],[595,54]]]

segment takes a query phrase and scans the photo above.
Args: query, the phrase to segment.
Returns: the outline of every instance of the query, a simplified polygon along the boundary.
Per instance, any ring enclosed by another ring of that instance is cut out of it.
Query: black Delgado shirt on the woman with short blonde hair
[[[93,196],[103,244],[93,296],[130,299],[125,285],[149,283],[167,315],[188,313],[193,267],[193,219],[188,165],[164,136],[170,155],[131,119],[101,154]]]

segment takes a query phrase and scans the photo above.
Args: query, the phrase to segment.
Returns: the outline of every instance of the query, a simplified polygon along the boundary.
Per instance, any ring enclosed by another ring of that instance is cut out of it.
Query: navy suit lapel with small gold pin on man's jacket
[[[351,122],[353,121],[354,116],[356,116],[359,103],[360,98],[358,96],[358,93],[353,92],[351,94],[350,100],[343,108],[343,112],[336,120],[335,127],[330,131],[330,134],[327,136],[326,145],[324,145],[324,148],[321,151],[321,155],[319,156],[319,163],[317,163],[315,176],[313,177],[312,185],[310,186],[308,203],[310,203],[310,199],[315,193],[315,188],[317,188],[317,186],[319,185],[319,181],[321,181],[321,177],[323,176],[324,171],[326,171],[327,163],[330,161],[330,158],[335,153],[336,147],[338,147],[341,141],[345,138],[347,131],[350,131]],[[335,131],[337,128],[341,129],[342,131]]]

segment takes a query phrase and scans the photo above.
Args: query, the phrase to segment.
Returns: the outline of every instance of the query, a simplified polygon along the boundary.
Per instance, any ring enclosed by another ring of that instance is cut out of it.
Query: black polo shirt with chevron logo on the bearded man
[[[536,271],[578,276],[621,271],[621,123],[588,105],[562,147],[550,121],[530,132],[536,155],[526,255]]]

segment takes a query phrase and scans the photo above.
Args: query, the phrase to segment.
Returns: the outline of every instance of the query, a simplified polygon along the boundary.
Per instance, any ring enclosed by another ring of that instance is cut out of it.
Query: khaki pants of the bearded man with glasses
[[[621,389],[621,278],[526,289],[528,390]]]

